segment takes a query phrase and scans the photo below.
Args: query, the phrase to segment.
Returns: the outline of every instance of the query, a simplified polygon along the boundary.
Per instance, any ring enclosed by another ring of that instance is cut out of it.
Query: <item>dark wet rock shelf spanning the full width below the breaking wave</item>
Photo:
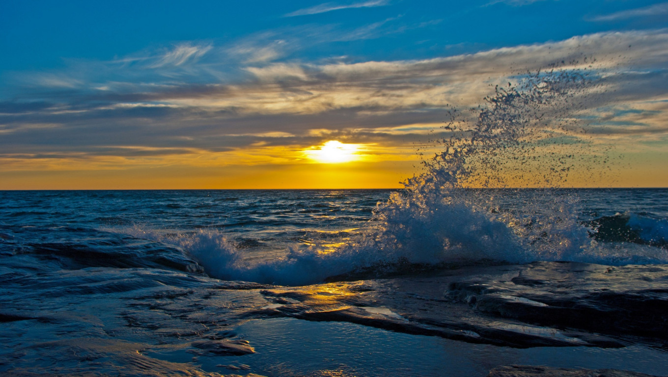
[[[9,261],[19,258],[34,256]],[[149,365],[156,374],[208,376],[164,360],[252,354],[236,328],[277,317],[515,348],[668,350],[668,266],[536,262],[303,287],[144,268],[3,271],[0,368],[11,375],[57,365],[62,375],[137,376]]]

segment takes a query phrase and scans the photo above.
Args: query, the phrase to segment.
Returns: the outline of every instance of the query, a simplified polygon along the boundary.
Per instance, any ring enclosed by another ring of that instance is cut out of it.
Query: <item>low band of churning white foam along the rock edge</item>
[[[393,200],[396,203],[397,199]],[[631,248],[619,243],[630,240],[597,239],[589,234],[593,229],[589,224],[564,220],[569,219],[567,216],[560,223],[530,219],[522,224],[509,223],[503,214],[454,201],[426,212],[401,208],[391,215],[387,212],[383,215],[385,222],[369,223],[362,236],[333,252],[325,252],[325,248],[316,244],[301,250],[290,248],[285,256],[272,260],[248,258],[246,246],[237,244],[220,230],[186,234],[137,230],[135,236],[186,250],[213,278],[285,286],[422,274],[471,264],[526,264],[537,260],[613,266],[668,264],[665,248],[638,243],[637,248]]]

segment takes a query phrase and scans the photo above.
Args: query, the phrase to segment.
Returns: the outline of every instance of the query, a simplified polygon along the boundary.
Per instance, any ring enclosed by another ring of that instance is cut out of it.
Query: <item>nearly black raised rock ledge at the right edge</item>
[[[668,268],[534,262],[510,280],[453,282],[476,311],[542,326],[668,340]]]

